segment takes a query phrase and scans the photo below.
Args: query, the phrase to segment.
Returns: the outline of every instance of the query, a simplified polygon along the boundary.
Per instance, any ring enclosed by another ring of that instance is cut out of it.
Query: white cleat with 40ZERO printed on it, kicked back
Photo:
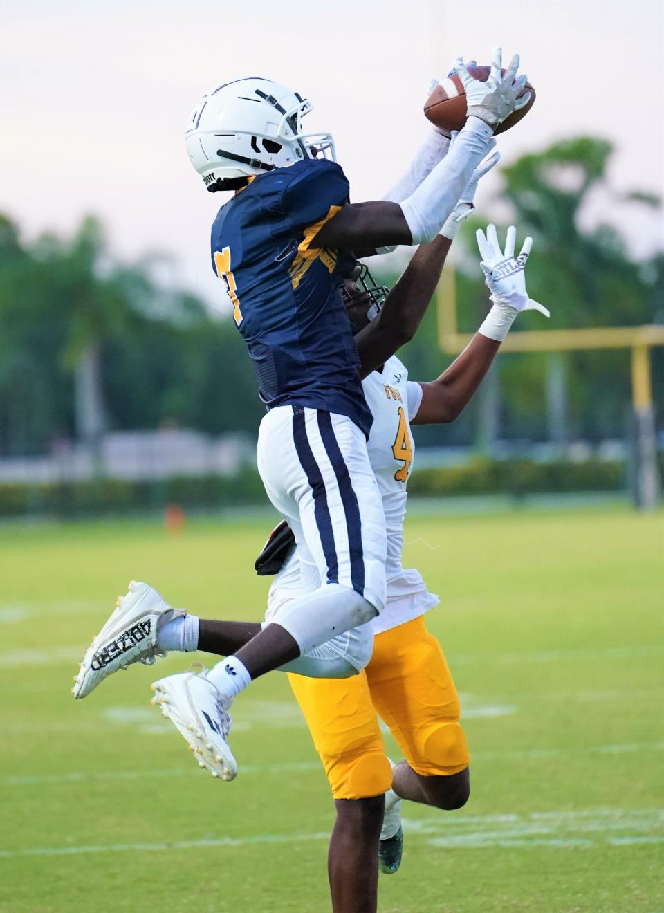
[[[155,656],[166,656],[165,650],[157,646],[157,632],[184,614],[152,586],[132,580],[129,592],[118,597],[115,611],[83,656],[71,693],[75,698],[85,698],[111,672],[139,661],[152,666]]]

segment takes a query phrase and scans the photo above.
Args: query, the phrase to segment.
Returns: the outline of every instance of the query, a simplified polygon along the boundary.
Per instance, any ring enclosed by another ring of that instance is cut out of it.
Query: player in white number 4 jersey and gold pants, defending
[[[459,202],[456,225],[447,226],[451,236],[470,209],[471,203]],[[457,691],[442,649],[427,632],[423,618],[438,599],[428,592],[419,572],[404,569],[401,563],[406,481],[415,456],[410,426],[454,421],[477,390],[517,314],[541,310],[548,316],[548,311],[529,299],[525,291],[524,265],[532,241],[526,238],[515,257],[515,236],[511,227],[501,250],[494,226],[488,227],[486,236],[478,232],[481,268],[493,306],[467,349],[437,380],[410,381],[406,366],[396,356],[388,357],[365,376],[364,395],[374,415],[368,449],[388,537],[387,604],[374,621],[333,638],[281,669],[289,673],[332,787],[336,821],[329,876],[335,913],[376,909],[379,860],[386,873],[395,872],[401,861],[403,799],[457,809],[469,797],[469,750],[459,724]],[[424,313],[423,299],[431,297],[450,242],[451,238],[440,236],[427,248],[420,248],[420,260],[427,264],[428,284],[401,283],[414,315]],[[346,307],[358,331],[355,339],[365,364],[373,363],[364,341],[371,339],[370,320],[379,310],[385,291],[372,284],[364,268],[356,284],[347,286]],[[269,591],[263,624],[278,619],[290,601],[319,585],[315,565],[300,561],[283,524],[258,557],[257,569],[271,573],[279,569]],[[196,645],[187,639],[186,619],[195,619]],[[164,625],[159,639],[163,649],[191,650],[197,646],[222,656],[248,643],[261,630],[258,623],[212,621],[193,615],[175,619],[171,630],[169,624]],[[196,675],[184,673],[182,678],[186,681]],[[154,701],[163,704],[159,684]],[[195,744],[198,717],[205,715],[205,708],[196,708],[195,701],[189,708],[182,702],[177,706],[166,703],[163,712],[173,719],[184,738]],[[406,759],[395,766],[385,754],[379,715]],[[196,758],[202,767],[223,777],[221,759],[215,763],[206,750],[212,748],[212,742],[204,746],[201,740],[195,748]]]

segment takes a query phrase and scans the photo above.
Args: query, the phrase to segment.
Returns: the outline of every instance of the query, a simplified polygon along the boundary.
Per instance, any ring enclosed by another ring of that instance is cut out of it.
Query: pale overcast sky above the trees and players
[[[308,131],[330,130],[355,201],[380,197],[427,130],[432,76],[457,54],[522,56],[537,89],[528,117],[501,137],[510,162],[564,136],[616,143],[617,192],[662,192],[662,0],[2,0],[0,209],[29,236],[69,232],[94,212],[123,257],[174,254],[178,276],[207,299],[207,194],[184,152],[203,92],[260,75],[310,98]],[[497,170],[498,171],[498,170]],[[500,200],[500,173],[480,205]],[[661,225],[635,207],[595,201],[592,217],[626,220],[635,249]],[[535,239],[536,243],[536,239]],[[226,302],[225,302],[226,303]]]

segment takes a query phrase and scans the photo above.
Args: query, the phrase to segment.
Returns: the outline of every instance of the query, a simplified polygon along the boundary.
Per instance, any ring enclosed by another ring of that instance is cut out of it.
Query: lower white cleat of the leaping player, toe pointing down
[[[162,708],[162,716],[170,719],[189,742],[199,767],[206,767],[213,777],[233,780],[237,762],[227,742],[230,701],[221,696],[201,672],[182,672],[166,676],[152,685],[152,703]]]

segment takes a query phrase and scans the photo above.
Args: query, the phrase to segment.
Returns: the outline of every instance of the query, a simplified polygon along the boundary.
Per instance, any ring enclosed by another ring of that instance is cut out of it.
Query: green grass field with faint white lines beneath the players
[[[329,909],[332,803],[285,677],[238,699],[232,783],[149,705],[189,656],[69,695],[131,577],[258,619],[265,525],[0,530],[1,910]],[[406,808],[382,913],[664,910],[661,514],[417,518],[406,541],[441,596],[428,624],[461,692],[472,795],[456,813]]]

